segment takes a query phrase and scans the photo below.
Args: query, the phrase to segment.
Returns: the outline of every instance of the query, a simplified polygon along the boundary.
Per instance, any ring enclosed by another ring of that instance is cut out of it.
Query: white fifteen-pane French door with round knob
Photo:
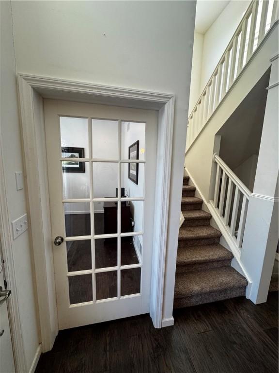
[[[59,329],[148,313],[157,112],[44,108]]]

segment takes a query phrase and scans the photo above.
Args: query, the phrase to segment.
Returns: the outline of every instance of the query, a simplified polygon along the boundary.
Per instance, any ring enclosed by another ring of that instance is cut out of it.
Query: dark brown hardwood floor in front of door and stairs
[[[36,373],[277,373],[278,292],[174,312],[155,329],[149,315],[60,331]]]

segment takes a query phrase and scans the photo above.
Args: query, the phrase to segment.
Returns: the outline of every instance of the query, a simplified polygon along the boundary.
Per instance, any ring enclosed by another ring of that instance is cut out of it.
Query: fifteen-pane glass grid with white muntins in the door
[[[141,293],[145,122],[60,116],[69,306]]]

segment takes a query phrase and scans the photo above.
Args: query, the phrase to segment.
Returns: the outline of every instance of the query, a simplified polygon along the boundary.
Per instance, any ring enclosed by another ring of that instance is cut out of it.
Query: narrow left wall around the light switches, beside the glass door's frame
[[[16,92],[16,63],[13,47],[12,14],[9,1],[0,1],[0,138],[10,221],[27,212],[24,190],[16,191],[15,171],[23,170],[20,123]],[[16,287],[20,310],[26,367],[29,371],[39,345],[36,291],[29,230],[12,241]],[[11,232],[12,235],[12,232]],[[13,289],[12,289],[13,296]]]

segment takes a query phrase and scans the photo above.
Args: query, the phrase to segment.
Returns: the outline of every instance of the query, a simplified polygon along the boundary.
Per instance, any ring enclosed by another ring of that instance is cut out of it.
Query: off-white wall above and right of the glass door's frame
[[[172,315],[195,1],[13,1],[20,72],[175,95],[163,318]]]

